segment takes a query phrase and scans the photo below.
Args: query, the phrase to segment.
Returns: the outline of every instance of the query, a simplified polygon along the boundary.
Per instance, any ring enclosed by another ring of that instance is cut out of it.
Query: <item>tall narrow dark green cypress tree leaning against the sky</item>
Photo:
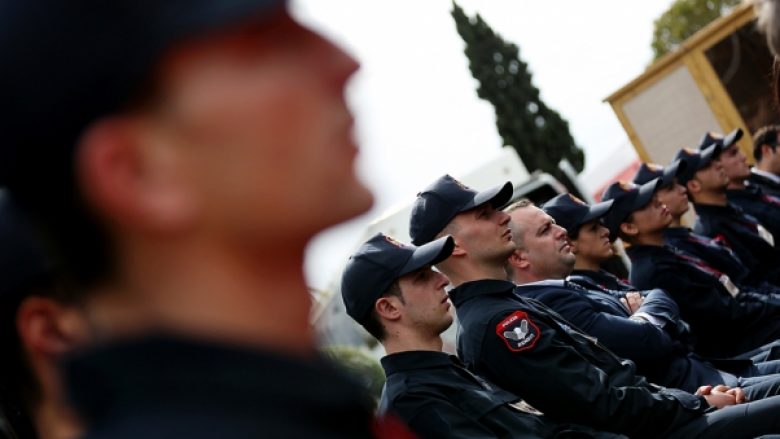
[[[471,74],[479,81],[477,95],[493,104],[504,144],[517,150],[529,171],[541,169],[561,177],[558,163],[563,158],[582,171],[585,157],[569,124],[539,98],[517,46],[504,41],[479,14],[468,17],[460,6],[452,5]]]

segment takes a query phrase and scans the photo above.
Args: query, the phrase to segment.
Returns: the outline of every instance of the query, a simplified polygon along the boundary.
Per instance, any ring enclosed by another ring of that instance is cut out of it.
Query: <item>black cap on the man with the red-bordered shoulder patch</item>
[[[415,245],[430,242],[461,212],[485,203],[496,209],[512,198],[512,183],[477,192],[449,175],[433,182],[417,194],[409,220],[409,236]]]

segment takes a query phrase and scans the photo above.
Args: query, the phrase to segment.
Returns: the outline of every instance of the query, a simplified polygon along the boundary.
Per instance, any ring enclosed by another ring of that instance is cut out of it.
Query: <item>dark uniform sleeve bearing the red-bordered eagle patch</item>
[[[548,417],[649,437],[663,436],[706,409],[702,397],[649,385],[635,376],[633,364],[621,364],[596,344],[578,350],[567,334],[524,314],[490,320],[496,333],[485,335],[478,368]]]

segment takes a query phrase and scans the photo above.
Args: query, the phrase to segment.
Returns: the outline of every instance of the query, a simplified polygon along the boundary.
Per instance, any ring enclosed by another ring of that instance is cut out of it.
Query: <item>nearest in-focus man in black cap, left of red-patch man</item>
[[[440,335],[452,324],[444,291],[449,281],[431,264],[452,249],[450,237],[413,247],[377,234],[344,270],[347,313],[387,352],[380,411],[397,413],[425,439],[617,437],[520,411],[510,405],[520,398],[441,351]]]

